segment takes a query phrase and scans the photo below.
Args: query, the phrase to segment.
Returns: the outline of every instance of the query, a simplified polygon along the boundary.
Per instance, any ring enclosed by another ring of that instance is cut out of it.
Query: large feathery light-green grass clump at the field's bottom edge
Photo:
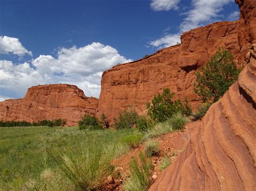
[[[55,158],[55,161],[77,189],[99,190],[113,172],[112,159],[111,150],[91,141],[82,153],[68,151],[62,157]]]

